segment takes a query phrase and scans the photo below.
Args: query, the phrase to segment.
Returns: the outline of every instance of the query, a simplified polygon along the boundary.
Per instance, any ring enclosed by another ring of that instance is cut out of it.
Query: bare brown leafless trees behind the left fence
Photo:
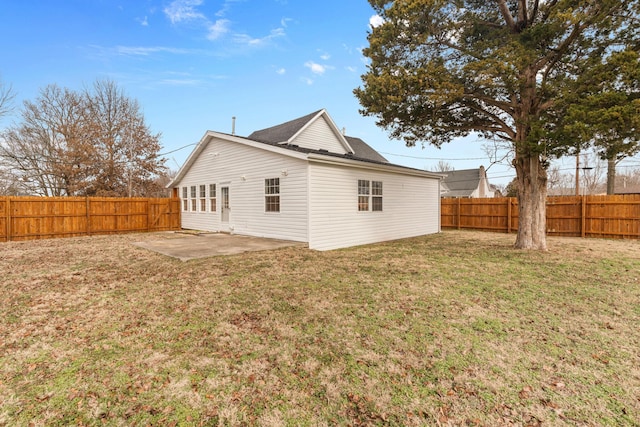
[[[14,97],[0,82],[0,117]],[[0,193],[164,196],[160,149],[138,102],[113,81],[81,91],[49,85],[0,132]]]

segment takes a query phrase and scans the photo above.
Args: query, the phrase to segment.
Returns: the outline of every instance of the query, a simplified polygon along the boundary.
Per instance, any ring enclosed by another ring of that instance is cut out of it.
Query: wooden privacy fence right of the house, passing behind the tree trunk
[[[518,230],[515,198],[442,199],[442,228]],[[640,194],[547,198],[547,234],[640,239]]]

